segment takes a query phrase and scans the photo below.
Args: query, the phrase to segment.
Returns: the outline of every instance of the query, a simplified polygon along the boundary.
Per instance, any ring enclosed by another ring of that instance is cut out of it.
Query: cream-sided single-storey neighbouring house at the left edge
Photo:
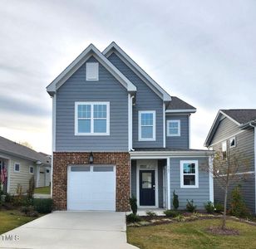
[[[16,194],[17,184],[22,186],[22,193],[28,189],[29,179],[34,176],[36,187],[50,184],[42,175],[49,170],[51,176],[51,159],[24,145],[0,137],[0,166],[7,169],[4,192]],[[41,173],[42,172],[42,173]]]

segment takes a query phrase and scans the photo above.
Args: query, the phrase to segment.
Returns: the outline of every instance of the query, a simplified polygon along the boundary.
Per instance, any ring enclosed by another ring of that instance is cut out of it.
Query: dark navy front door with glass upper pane
[[[140,170],[140,206],[155,206],[155,170]]]

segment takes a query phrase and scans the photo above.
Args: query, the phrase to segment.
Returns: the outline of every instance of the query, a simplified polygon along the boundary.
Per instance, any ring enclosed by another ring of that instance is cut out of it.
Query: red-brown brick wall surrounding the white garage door
[[[87,152],[54,152],[52,198],[57,210],[66,210],[67,166],[89,164]],[[130,155],[123,152],[95,152],[93,164],[116,165],[116,211],[129,211]]]

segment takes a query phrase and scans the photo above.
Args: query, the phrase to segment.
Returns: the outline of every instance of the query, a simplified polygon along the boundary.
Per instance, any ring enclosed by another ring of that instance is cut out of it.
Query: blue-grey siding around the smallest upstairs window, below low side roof
[[[166,147],[189,149],[189,116],[188,115],[166,115]],[[180,136],[167,135],[167,120],[180,120]]]

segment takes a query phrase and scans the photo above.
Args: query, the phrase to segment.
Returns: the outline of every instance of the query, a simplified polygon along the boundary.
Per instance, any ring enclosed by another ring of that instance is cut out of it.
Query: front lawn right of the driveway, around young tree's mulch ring
[[[256,248],[256,227],[229,220],[227,227],[239,236],[213,235],[208,227],[219,226],[219,219],[179,222],[149,227],[127,227],[128,242],[141,249],[164,248]]]

